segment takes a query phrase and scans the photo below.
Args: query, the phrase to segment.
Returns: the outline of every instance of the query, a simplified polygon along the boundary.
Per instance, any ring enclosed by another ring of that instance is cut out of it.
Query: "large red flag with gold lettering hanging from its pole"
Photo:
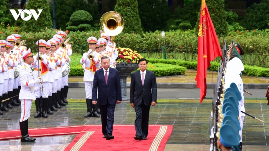
[[[218,56],[221,56],[222,59],[219,40],[205,0],[202,0],[198,31],[197,75],[195,78],[197,88],[200,88],[200,103],[202,103],[206,95],[206,69],[210,66],[210,61]]]

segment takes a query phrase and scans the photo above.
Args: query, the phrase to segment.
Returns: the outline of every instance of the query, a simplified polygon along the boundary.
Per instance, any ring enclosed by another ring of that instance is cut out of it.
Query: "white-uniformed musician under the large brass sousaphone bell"
[[[116,59],[118,58],[118,51],[116,50],[116,44],[115,44],[115,48],[113,46],[113,43],[110,41],[109,35],[106,33],[101,33],[100,35],[101,38],[105,38],[107,40],[107,45],[105,47],[105,51],[109,52],[110,57],[111,57],[111,61],[110,64],[112,64],[113,66],[117,65]]]

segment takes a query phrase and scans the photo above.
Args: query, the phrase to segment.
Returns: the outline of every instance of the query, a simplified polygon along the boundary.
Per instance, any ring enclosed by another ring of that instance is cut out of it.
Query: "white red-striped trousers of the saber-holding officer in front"
[[[30,99],[21,99],[21,116],[20,122],[27,120],[30,117],[30,110],[33,100]]]

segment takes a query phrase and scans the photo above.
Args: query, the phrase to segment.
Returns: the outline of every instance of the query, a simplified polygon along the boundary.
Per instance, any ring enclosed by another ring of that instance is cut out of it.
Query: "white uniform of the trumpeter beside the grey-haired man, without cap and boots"
[[[83,65],[85,64],[83,81],[85,82],[86,99],[91,99],[92,97],[92,86],[95,71],[91,66],[95,66],[95,70],[98,70],[99,66],[101,66],[101,61],[98,58],[98,55],[95,55],[95,53],[93,53],[94,58],[92,60],[88,58],[89,55],[89,52],[85,52],[83,54],[83,57],[80,59],[80,63]]]

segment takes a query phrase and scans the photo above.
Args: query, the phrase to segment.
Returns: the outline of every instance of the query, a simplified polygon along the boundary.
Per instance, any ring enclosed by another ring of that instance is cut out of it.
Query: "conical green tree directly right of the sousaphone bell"
[[[117,0],[115,11],[124,19],[124,32],[142,34],[137,0]]]

